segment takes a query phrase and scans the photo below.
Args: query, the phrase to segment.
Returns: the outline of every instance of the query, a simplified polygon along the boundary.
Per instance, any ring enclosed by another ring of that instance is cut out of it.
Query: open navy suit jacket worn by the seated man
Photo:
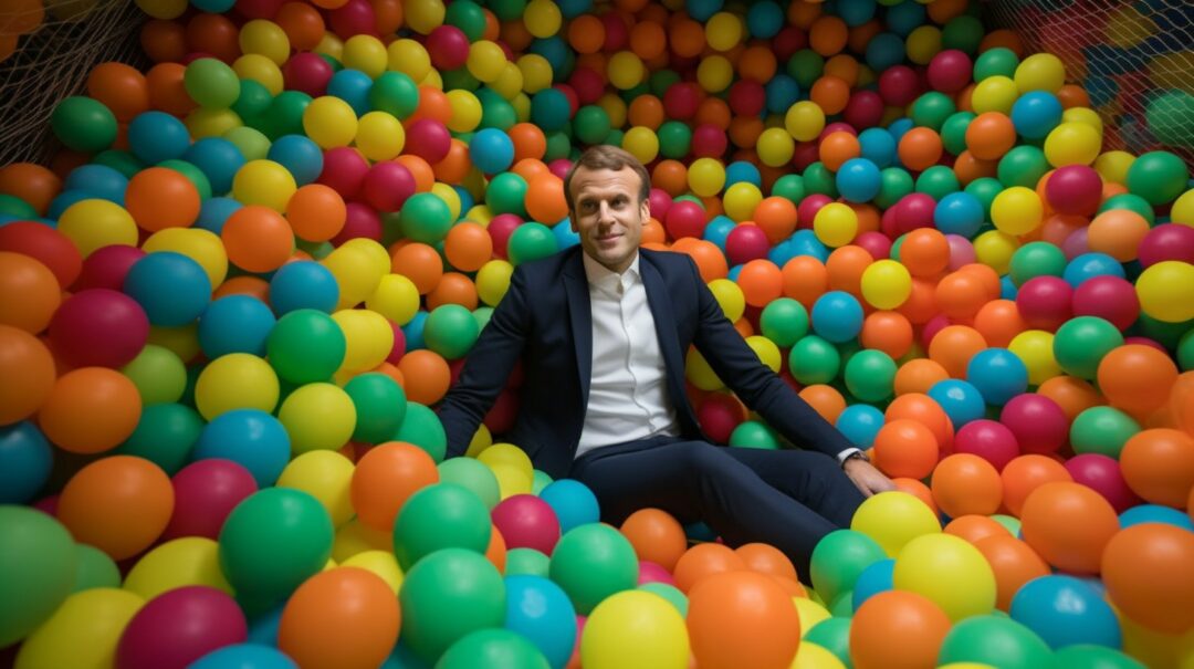
[[[463,455],[486,412],[522,360],[518,417],[506,440],[553,478],[568,474],[580,441],[592,370],[592,311],[579,246],[518,265],[457,382],[439,407],[448,456]],[[769,368],[725,317],[685,254],[639,251],[639,271],[667,368],[667,392],[682,435],[708,440],[684,393],[689,345],[738,397],[795,444],[836,456],[850,448]]]

